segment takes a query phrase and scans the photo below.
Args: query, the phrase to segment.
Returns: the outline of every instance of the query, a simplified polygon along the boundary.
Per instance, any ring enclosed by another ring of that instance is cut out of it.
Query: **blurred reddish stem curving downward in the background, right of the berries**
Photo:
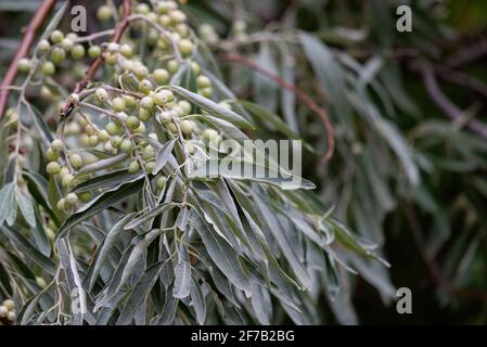
[[[329,143],[326,152],[323,155],[323,159],[330,160],[332,158],[333,152],[335,151],[335,136],[334,136],[333,126],[330,121],[330,117],[328,115],[326,110],[318,106],[318,104],[315,101],[312,101],[312,99],[309,98],[308,94],[306,94],[306,92],[303,91],[302,89],[299,89],[298,87],[285,81],[281,77],[277,76],[273,73],[267,70],[266,68],[259,66],[258,64],[254,63],[249,59],[246,59],[246,57],[235,54],[235,53],[223,53],[220,55],[220,59],[223,61],[227,61],[227,62],[241,64],[241,65],[246,66],[259,74],[262,74],[264,76],[266,76],[273,82],[278,83],[282,88],[294,93],[296,95],[296,98],[302,103],[304,103],[311,111],[313,111],[316,114],[318,114],[320,116],[321,120],[323,121],[324,128],[326,130],[326,137],[328,137],[328,143]]]

